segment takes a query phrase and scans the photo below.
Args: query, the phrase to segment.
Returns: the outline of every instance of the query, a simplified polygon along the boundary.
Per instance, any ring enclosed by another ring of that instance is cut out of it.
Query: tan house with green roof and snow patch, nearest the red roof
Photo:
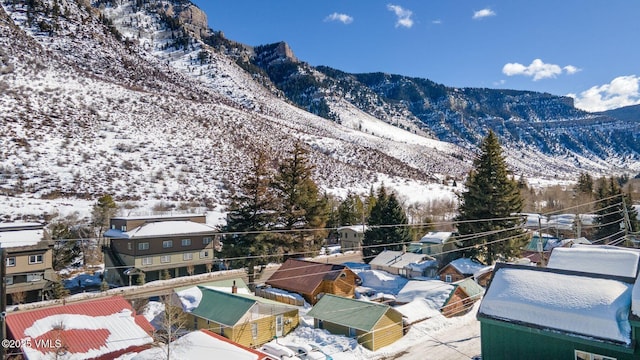
[[[253,295],[197,286],[176,292],[176,296],[190,328],[207,329],[247,347],[285,336],[300,321],[298,308]],[[200,300],[194,303],[195,298]]]

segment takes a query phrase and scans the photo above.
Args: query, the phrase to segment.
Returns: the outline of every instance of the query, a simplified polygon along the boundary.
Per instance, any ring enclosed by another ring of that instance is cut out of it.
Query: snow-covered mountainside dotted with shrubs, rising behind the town
[[[259,52],[207,28],[189,1],[0,4],[3,194],[220,204],[256,149],[275,163],[297,141],[334,192],[424,185],[471,168],[472,146],[437,140],[407,109],[372,112],[328,92],[334,119],[306,111],[259,71]],[[528,177],[640,169],[637,154],[506,148]]]

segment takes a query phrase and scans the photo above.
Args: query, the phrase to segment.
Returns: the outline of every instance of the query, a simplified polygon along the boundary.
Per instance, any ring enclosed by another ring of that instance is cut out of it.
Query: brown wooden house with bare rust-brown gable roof
[[[360,278],[344,265],[287,259],[265,283],[302,295],[315,304],[324,294],[354,297]]]

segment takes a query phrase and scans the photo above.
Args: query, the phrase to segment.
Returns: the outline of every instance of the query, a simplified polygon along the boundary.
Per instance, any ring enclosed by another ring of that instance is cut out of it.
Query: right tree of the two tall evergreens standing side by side
[[[320,195],[311,175],[308,151],[296,143],[278,168],[272,187],[279,199],[278,224],[286,230],[323,228],[328,218],[327,199]],[[324,232],[280,234],[284,253],[317,250]]]

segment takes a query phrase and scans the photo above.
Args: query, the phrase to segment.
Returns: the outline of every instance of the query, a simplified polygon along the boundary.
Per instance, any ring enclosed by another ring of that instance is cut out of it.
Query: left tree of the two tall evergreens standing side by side
[[[231,197],[224,232],[232,233],[225,239],[223,255],[236,258],[235,264],[246,267],[250,282],[255,266],[266,264],[269,254],[269,230],[276,219],[276,200],[270,184],[273,174],[267,168],[268,156],[259,151],[251,159],[251,167],[239,188]]]

